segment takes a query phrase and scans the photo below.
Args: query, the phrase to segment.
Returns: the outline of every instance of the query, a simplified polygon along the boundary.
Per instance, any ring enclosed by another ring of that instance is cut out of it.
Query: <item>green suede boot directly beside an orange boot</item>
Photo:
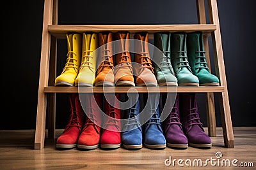
[[[178,86],[177,78],[173,71],[170,49],[170,32],[157,32],[154,34],[154,69],[159,86]]]

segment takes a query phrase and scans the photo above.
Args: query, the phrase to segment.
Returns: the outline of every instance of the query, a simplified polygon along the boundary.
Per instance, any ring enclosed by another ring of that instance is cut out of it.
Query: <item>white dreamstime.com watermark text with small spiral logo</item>
[[[216,152],[215,157],[209,159],[172,159],[170,156],[164,160],[165,166],[180,166],[180,167],[206,167],[206,166],[218,166],[218,167],[253,167],[253,162],[239,162],[238,159],[222,159],[221,152]]]

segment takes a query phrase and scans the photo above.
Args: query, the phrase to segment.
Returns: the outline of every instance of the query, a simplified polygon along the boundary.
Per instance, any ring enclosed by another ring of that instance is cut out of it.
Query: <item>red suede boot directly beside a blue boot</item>
[[[120,100],[120,94],[116,94],[116,98]],[[106,101],[106,99],[104,100],[104,112],[109,117],[104,121],[104,129],[102,130],[102,135],[100,137],[101,148],[119,148],[121,146],[121,113],[120,109],[117,109],[119,108],[118,103],[119,101],[116,102],[115,107],[113,107]]]

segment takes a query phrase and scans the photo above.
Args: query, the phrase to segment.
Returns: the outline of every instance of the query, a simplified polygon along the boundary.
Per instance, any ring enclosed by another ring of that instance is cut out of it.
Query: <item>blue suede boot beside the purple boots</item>
[[[159,107],[157,107],[157,109],[152,107],[152,109],[147,111],[150,111],[149,112],[150,119],[145,124],[144,145],[147,148],[152,148],[152,149],[165,148],[166,141],[164,138],[163,130],[162,130],[160,119],[159,119],[160,117]]]

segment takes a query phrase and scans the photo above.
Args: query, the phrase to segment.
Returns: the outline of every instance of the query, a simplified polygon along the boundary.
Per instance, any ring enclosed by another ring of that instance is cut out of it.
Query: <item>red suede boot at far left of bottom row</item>
[[[56,141],[56,148],[75,148],[84,122],[78,94],[70,94],[70,117],[65,130]]]

